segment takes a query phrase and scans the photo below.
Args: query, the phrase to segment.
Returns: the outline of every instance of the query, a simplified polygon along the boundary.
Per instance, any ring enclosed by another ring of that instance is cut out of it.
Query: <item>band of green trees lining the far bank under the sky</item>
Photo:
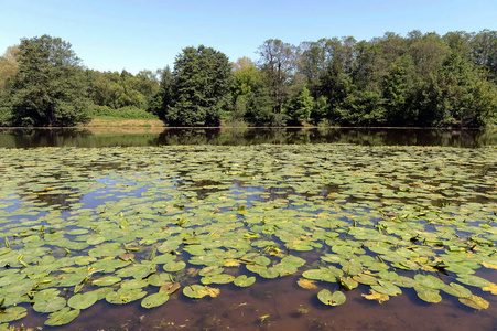
[[[256,54],[230,62],[218,50],[187,46],[172,68],[99,72],[60,38],[24,38],[0,57],[0,126],[63,127],[99,116],[170,127],[497,124],[497,31],[299,45],[270,39]]]

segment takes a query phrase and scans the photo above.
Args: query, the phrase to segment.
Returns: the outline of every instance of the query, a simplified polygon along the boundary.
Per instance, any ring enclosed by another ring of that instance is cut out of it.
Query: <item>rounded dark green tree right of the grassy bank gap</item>
[[[174,62],[173,102],[164,119],[173,126],[218,126],[230,106],[231,66],[212,47],[183,49]]]

